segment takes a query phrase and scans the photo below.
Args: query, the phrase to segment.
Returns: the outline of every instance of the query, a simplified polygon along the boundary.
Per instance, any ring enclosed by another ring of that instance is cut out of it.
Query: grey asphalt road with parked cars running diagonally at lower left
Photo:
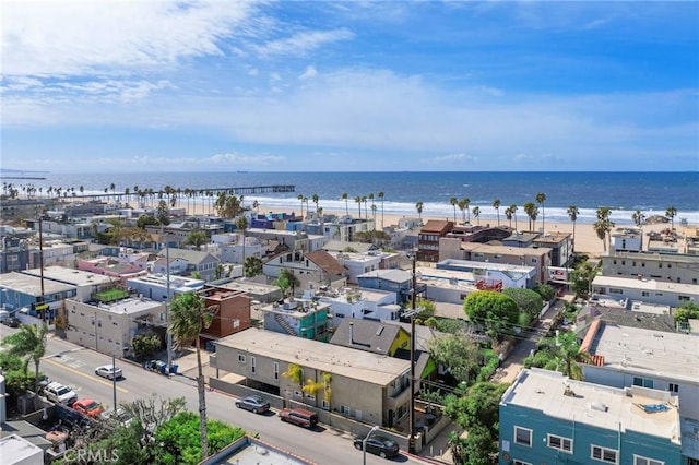
[[[8,334],[4,327],[2,335]],[[187,408],[197,412],[196,382],[182,375],[171,378],[144,370],[142,367],[126,361],[117,361],[123,371],[123,378],[112,383],[111,380],[97,377],[95,368],[111,363],[111,357],[50,337],[46,357],[42,360],[40,370],[51,380],[70,385],[79,398],[90,397],[112,407],[115,384],[117,402],[130,402],[157,393],[159,397],[185,397]],[[283,450],[311,460],[318,464],[362,463],[363,453],[354,449],[352,437],[320,426],[316,430],[306,430],[294,425],[280,421],[273,413],[254,415],[235,407],[235,398],[218,392],[206,392],[206,412],[210,418],[239,426],[250,433],[259,433],[261,440]],[[383,460],[367,454],[367,464],[424,464],[404,454],[393,460]]]

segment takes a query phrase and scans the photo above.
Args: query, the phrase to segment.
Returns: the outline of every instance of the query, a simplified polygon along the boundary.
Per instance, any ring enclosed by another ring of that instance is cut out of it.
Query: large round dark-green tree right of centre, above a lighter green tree
[[[476,290],[463,301],[463,309],[472,323],[486,327],[494,346],[505,334],[511,332],[519,319],[517,302],[509,296],[495,290]]]

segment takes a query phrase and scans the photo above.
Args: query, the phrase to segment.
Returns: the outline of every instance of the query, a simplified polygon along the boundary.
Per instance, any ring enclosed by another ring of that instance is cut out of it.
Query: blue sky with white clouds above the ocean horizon
[[[1,165],[699,170],[697,1],[3,0]]]

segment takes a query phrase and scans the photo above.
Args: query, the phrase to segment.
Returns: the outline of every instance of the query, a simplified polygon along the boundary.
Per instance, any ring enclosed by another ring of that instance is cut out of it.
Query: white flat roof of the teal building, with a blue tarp
[[[547,417],[617,431],[638,431],[679,443],[676,397],[664,391],[632,386],[611,388],[570,380],[550,370],[522,369],[506,391],[501,405],[540,410]],[[642,407],[664,405],[647,413]]]

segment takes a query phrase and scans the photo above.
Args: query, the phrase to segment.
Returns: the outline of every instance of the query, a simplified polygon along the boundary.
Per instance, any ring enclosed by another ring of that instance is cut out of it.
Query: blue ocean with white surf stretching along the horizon
[[[19,175],[19,174],[17,174]],[[522,205],[534,202],[536,194],[546,195],[544,202],[546,222],[566,223],[570,218],[566,213],[569,205],[576,205],[580,214],[579,224],[595,222],[599,207],[612,208],[612,220],[617,225],[632,224],[631,215],[637,210],[645,217],[664,215],[668,206],[677,211],[675,224],[686,219],[689,224],[699,224],[699,171],[691,172],[135,172],[135,174],[25,174],[24,176],[43,176],[44,180],[9,179],[7,171],[2,182],[13,183],[15,187],[34,186],[43,189],[43,194],[49,187],[79,189],[82,186],[84,194],[103,193],[111,183],[116,192],[129,189],[151,188],[154,191],[170,186],[175,189],[214,189],[241,188],[254,186],[293,184],[295,192],[270,193],[263,195],[246,195],[244,204],[251,206],[257,200],[265,208],[275,211],[299,211],[298,195],[308,198],[308,206],[312,211],[316,204],[312,196],[318,195],[318,206],[325,212],[345,208],[352,215],[359,213],[359,205],[355,196],[374,194],[377,205],[377,218],[381,207],[386,214],[417,216],[416,203],[423,202],[423,217],[445,217],[452,219],[454,208],[450,199],[470,199],[470,210],[478,206],[481,222],[493,220],[497,212],[493,207],[495,199],[500,200],[500,222],[507,223],[505,210],[516,204],[519,206],[517,217],[526,218]],[[111,193],[111,189],[108,189]],[[71,190],[72,192],[72,190]],[[383,192],[383,205],[378,193]],[[348,201],[342,200],[347,193]],[[190,200],[194,201],[193,199]],[[209,202],[208,199],[199,200]],[[182,204],[185,201],[182,202]],[[366,205],[371,215],[371,201]],[[365,204],[360,205],[362,216],[365,216]],[[306,208],[306,204],[304,204]],[[473,216],[473,214],[471,214]],[[457,219],[461,219],[461,212],[457,207]],[[472,223],[475,220],[472,217]]]

